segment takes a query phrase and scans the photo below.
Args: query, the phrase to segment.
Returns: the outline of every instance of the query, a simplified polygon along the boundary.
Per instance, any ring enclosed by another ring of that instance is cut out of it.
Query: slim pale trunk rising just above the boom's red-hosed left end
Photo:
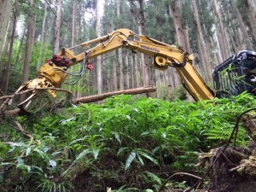
[[[55,48],[54,54],[57,54],[60,49],[60,32],[61,32],[61,9],[62,9],[62,0],[56,0],[56,20],[55,20]]]

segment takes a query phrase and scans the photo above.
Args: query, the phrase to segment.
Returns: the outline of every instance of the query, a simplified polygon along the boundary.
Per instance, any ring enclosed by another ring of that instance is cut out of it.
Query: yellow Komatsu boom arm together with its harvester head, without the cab
[[[75,55],[72,49],[77,47],[87,49],[83,53]],[[141,52],[150,55],[154,59],[153,67],[158,70],[164,71],[168,67],[175,67],[183,85],[189,91],[189,94],[195,98],[195,101],[214,97],[213,91],[209,89],[192,64],[193,55],[189,55],[177,46],[137,35],[128,29],[119,29],[101,38],[84,42],[69,49],[61,49],[57,55],[53,56],[51,61],[46,62],[38,70],[37,79],[22,84],[16,92],[29,88],[61,87],[61,84],[67,79],[68,67],[81,62],[85,63],[98,55],[104,55],[119,48],[131,49],[133,53]],[[55,96],[55,90],[47,91],[50,95]],[[33,94],[37,95],[37,93]],[[20,105],[25,102],[20,103]]]

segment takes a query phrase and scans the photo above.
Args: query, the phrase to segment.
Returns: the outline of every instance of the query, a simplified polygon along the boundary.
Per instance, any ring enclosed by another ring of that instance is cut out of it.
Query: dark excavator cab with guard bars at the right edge
[[[232,55],[213,71],[218,98],[237,96],[256,89],[256,52],[243,50]]]

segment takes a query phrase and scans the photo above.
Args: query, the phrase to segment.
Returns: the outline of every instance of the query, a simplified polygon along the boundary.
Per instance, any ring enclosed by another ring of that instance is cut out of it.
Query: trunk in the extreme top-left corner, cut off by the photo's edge
[[[1,0],[0,6],[0,55],[3,49],[4,38],[7,30],[7,24],[9,21],[9,15],[11,13],[11,4],[10,0]]]

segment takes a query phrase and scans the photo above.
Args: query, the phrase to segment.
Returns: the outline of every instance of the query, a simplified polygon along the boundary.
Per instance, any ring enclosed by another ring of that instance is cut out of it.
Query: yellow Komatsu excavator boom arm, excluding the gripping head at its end
[[[133,40],[136,37],[138,40]],[[154,57],[154,67],[156,69],[166,70],[169,66],[175,67],[189,94],[196,101],[212,99],[214,97],[212,90],[208,88],[201,75],[192,65],[193,55],[189,55],[174,45],[164,44],[142,35],[137,36],[128,29],[116,30],[107,36],[90,40],[89,42],[80,44],[80,46],[86,47],[90,44],[96,44],[96,46],[79,55],[74,55],[71,49],[65,48],[59,54],[73,61],[70,63],[70,66],[72,66],[82,62],[85,55],[90,60],[114,49],[131,49],[134,53],[141,52]]]

